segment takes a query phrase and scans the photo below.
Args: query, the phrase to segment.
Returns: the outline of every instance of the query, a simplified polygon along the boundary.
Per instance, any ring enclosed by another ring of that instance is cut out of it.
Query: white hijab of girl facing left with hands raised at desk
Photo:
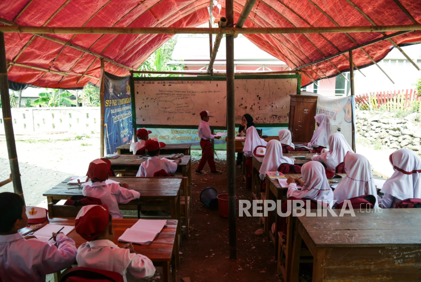
[[[325,200],[328,204],[330,204],[333,200],[333,192],[330,188],[328,179],[326,178],[325,167],[320,162],[309,161],[302,166],[301,172],[303,174],[304,181],[304,186],[301,189],[301,192],[313,190],[313,200]]]

